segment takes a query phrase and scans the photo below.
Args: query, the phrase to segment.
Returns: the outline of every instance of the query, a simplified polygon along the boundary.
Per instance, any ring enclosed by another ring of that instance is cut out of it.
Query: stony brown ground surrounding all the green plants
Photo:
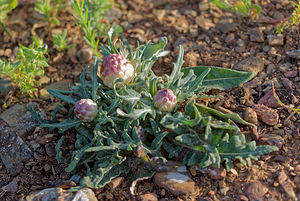
[[[37,35],[49,45],[50,66],[45,76],[40,77],[43,85],[34,98],[22,95],[9,81],[0,80],[0,118],[4,120],[0,121],[0,200],[35,200],[34,196],[48,196],[48,200],[51,196],[57,200],[70,200],[74,196],[81,199],[88,196],[90,200],[144,201],[300,200],[299,114],[278,105],[271,91],[273,82],[281,101],[299,108],[299,28],[291,27],[282,35],[276,35],[275,24],[269,20],[289,16],[293,10],[290,1],[257,1],[262,13],[256,21],[200,0],[117,1],[120,7],[114,8],[109,16],[124,28],[124,35],[131,44],[137,40],[155,41],[161,36],[168,38],[166,49],[171,54],[155,66],[157,74],[171,71],[179,44],[185,49],[184,66],[254,71],[256,76],[252,81],[236,89],[213,92],[225,98],[207,104],[225,113],[238,113],[255,123],[257,133],[243,130],[247,138],[280,149],[252,161],[250,167],[236,163],[227,173],[223,168],[186,168],[173,161],[167,172],[138,181],[134,195],[126,175],[94,191],[84,189],[75,195],[63,190],[76,185],[80,175],[66,173],[66,165],[57,163],[55,145],[61,134],[40,129],[32,120],[29,108],[32,104],[39,106],[49,117],[58,101],[46,88],[68,89],[91,62],[91,51],[75,25],[71,9],[59,14],[60,27],[47,31],[45,26],[39,26],[42,19],[34,11],[33,2],[22,1],[10,14],[7,27],[16,43],[1,33],[0,57],[13,59],[17,43],[28,45],[30,36]],[[57,52],[50,36],[61,33],[64,28],[76,46]],[[67,110],[62,110],[59,117],[66,114]],[[69,146],[66,150],[72,149],[75,134],[69,131],[65,135]],[[32,192],[35,194],[26,198]]]

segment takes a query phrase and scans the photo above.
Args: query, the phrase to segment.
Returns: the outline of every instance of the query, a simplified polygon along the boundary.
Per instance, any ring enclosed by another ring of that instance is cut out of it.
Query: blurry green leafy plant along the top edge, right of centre
[[[257,19],[261,12],[261,7],[252,4],[251,0],[240,0],[234,5],[228,3],[227,0],[210,0],[208,3],[213,3],[223,10],[238,13],[244,17],[249,16],[252,19]]]

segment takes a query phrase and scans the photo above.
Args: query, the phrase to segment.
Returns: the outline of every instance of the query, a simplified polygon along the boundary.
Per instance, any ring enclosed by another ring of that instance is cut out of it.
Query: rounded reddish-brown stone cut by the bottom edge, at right
[[[248,186],[246,194],[250,200],[262,200],[268,191],[269,189],[260,181],[254,181]]]

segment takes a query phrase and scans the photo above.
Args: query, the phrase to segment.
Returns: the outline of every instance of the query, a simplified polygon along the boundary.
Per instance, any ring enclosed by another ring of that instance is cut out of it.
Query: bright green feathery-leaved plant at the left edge
[[[0,77],[9,77],[15,81],[23,93],[32,95],[36,85],[36,76],[44,74],[43,67],[47,67],[47,59],[44,56],[47,46],[43,41],[33,37],[33,43],[29,47],[19,46],[16,59],[13,63],[0,59]]]

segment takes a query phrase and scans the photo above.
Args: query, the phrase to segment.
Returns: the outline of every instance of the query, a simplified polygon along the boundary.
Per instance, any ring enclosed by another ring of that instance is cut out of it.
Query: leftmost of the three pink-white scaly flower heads
[[[98,114],[98,106],[91,99],[80,99],[75,104],[75,115],[84,122],[90,122],[95,119]]]

